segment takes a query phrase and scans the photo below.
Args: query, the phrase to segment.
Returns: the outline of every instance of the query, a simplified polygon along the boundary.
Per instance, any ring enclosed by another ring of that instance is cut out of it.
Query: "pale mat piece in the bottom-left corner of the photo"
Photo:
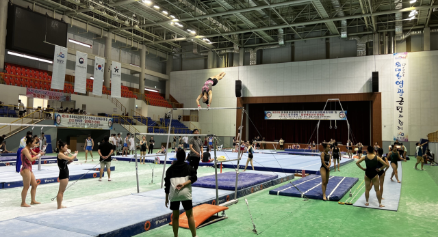
[[[56,229],[44,225],[37,225],[27,221],[16,219],[0,222],[1,236],[3,237],[23,237],[23,236],[41,236],[41,237],[88,237],[90,235],[69,232],[64,229]]]

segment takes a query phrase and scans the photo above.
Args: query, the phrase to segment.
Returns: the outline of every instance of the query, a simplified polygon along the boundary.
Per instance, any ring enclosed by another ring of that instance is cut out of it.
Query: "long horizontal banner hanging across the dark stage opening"
[[[347,120],[347,111],[265,111],[265,120]]]

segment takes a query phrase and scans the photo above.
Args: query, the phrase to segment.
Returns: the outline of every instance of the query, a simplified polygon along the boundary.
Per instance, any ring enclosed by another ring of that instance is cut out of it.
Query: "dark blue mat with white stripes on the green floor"
[[[331,176],[327,184],[326,196],[329,201],[339,201],[354,186],[358,178]],[[292,182],[302,193],[311,199],[322,200],[321,176],[307,176]],[[272,195],[301,197],[301,193],[292,184],[286,184],[269,191]]]

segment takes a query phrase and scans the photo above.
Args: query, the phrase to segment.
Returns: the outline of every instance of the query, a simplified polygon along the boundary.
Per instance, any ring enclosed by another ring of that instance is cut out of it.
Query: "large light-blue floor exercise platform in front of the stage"
[[[214,156],[213,152],[210,152],[211,156]],[[227,160],[232,160],[237,158],[237,153],[230,152],[216,152],[217,156],[224,156]],[[139,155],[138,155],[139,156]],[[170,156],[170,157],[169,157]],[[170,158],[175,156],[175,153],[170,153],[168,156],[167,163],[172,163]],[[133,155],[129,155],[128,157],[122,156],[112,156],[113,158],[117,158],[118,161],[132,161],[135,162],[135,159],[132,158]],[[159,156],[161,163],[164,163],[164,156]],[[244,154],[242,156],[242,160],[240,161],[239,168],[244,169],[246,165],[246,160],[248,158],[248,154]],[[149,154],[149,157],[146,157],[146,162],[153,163],[155,160],[155,156]],[[140,158],[138,158],[140,161]],[[341,165],[346,165],[352,162],[352,159],[342,158]],[[279,165],[281,164],[281,165]],[[199,166],[213,166],[214,163],[199,163]],[[222,167],[235,169],[237,165],[236,161],[224,162],[222,163]],[[263,153],[254,153],[253,165],[255,166],[255,170],[258,171],[273,171],[276,173],[301,173],[302,170],[305,170],[306,173],[316,174],[319,173],[321,167],[321,159],[320,156],[298,156],[298,155],[286,155],[286,154],[263,154]],[[248,169],[251,169],[248,166]],[[333,169],[333,167],[331,167]]]

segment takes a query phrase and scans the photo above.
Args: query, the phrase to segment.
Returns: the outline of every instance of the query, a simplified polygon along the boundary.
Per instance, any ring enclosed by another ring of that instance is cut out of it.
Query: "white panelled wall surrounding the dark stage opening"
[[[438,130],[438,51],[409,53],[409,140],[419,141]],[[379,72],[382,93],[382,137],[393,139],[392,55],[323,59],[282,64],[172,72],[170,94],[185,107],[196,107],[196,96],[209,76],[227,75],[214,87],[212,107],[235,107],[235,80],[242,80],[242,96],[289,96],[372,92],[373,71]],[[238,72],[238,74],[237,74]],[[238,76],[237,76],[238,75]],[[205,107],[205,104],[202,105]],[[188,114],[186,114],[188,115]],[[200,111],[203,133],[233,136],[235,111]]]

